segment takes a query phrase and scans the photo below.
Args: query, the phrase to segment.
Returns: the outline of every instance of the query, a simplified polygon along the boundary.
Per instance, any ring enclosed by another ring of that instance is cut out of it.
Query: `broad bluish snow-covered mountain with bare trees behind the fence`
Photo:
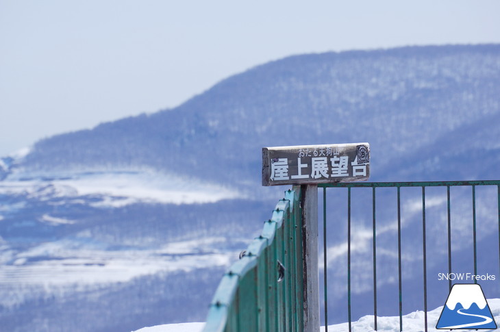
[[[229,77],[175,109],[53,136],[2,157],[0,326],[37,331],[42,321],[51,331],[125,331],[202,321],[223,270],[286,189],[260,186],[263,146],[369,142],[373,181],[498,179],[499,91],[500,45],[296,55]],[[453,236],[464,244],[453,250],[464,261],[467,195],[453,192],[462,225]],[[438,243],[446,201],[437,192],[428,199],[436,216],[428,241]],[[484,251],[495,240],[487,231],[495,199],[477,207]],[[417,200],[403,196],[408,249],[418,246]],[[371,238],[356,213],[353,255],[362,262]],[[385,213],[379,286],[392,294],[395,228]],[[339,303],[331,317],[342,322],[345,276],[336,266],[345,260],[345,225],[331,223],[329,294]],[[442,248],[429,252],[439,256]],[[421,303],[421,292],[412,291],[419,255],[403,257],[407,312]],[[353,301],[366,303],[370,271],[356,264]],[[431,283],[445,272],[440,264],[429,266]],[[486,291],[500,297],[497,284]],[[380,312],[395,309],[390,298],[381,295]],[[368,304],[357,310],[358,318],[370,314]]]

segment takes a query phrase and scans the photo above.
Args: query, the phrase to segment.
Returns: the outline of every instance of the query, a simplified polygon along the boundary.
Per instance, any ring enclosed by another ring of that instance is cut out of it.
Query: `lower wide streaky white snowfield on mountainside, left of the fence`
[[[226,243],[225,238],[204,238],[160,248],[110,251],[99,244],[60,240],[13,255],[7,250],[0,263],[13,263],[1,266],[0,288],[8,290],[10,296],[0,298],[0,305],[12,307],[40,291],[71,293],[145,275],[229,266],[238,253],[221,248]]]

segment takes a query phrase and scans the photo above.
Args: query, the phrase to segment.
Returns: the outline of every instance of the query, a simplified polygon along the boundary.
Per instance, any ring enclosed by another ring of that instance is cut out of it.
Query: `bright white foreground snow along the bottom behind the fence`
[[[500,298],[493,298],[488,300],[495,322],[500,327]],[[441,314],[442,307],[438,307],[427,313],[428,330],[432,332],[444,331],[435,329]],[[183,323],[183,324],[166,324],[156,327],[145,327],[135,332],[201,332],[205,323]],[[423,311],[412,312],[411,314],[403,316],[403,331],[405,332],[420,332],[424,331],[424,313]],[[373,316],[364,316],[357,322],[352,322],[352,331],[371,332],[374,331]],[[321,332],[325,332],[325,327],[321,327]],[[334,324],[329,325],[328,331],[331,332],[347,332],[349,331],[349,324]],[[377,318],[377,331],[381,332],[399,332],[399,316],[396,317],[379,317]],[[460,330],[460,331],[476,331],[476,330]],[[485,331],[485,330],[482,330]],[[488,330],[494,331],[494,330]]]

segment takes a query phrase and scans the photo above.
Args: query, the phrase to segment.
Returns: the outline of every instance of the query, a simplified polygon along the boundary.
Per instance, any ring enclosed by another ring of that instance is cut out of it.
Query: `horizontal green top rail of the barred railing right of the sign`
[[[413,182],[338,182],[320,183],[318,188],[379,188],[379,187],[447,187],[500,186],[500,180],[478,181],[413,181]]]

